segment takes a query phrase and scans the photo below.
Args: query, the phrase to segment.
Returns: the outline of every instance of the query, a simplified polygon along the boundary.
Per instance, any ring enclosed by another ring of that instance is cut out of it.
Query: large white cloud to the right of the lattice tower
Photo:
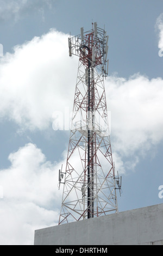
[[[121,156],[146,154],[162,141],[162,82],[140,74],[128,80],[110,76],[106,81],[112,143]]]

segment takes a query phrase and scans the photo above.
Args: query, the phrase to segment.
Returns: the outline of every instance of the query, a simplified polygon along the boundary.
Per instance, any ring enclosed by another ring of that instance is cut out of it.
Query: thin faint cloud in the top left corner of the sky
[[[51,0],[1,0],[0,20],[18,20],[22,14],[36,9],[43,11],[43,8],[51,8]]]

